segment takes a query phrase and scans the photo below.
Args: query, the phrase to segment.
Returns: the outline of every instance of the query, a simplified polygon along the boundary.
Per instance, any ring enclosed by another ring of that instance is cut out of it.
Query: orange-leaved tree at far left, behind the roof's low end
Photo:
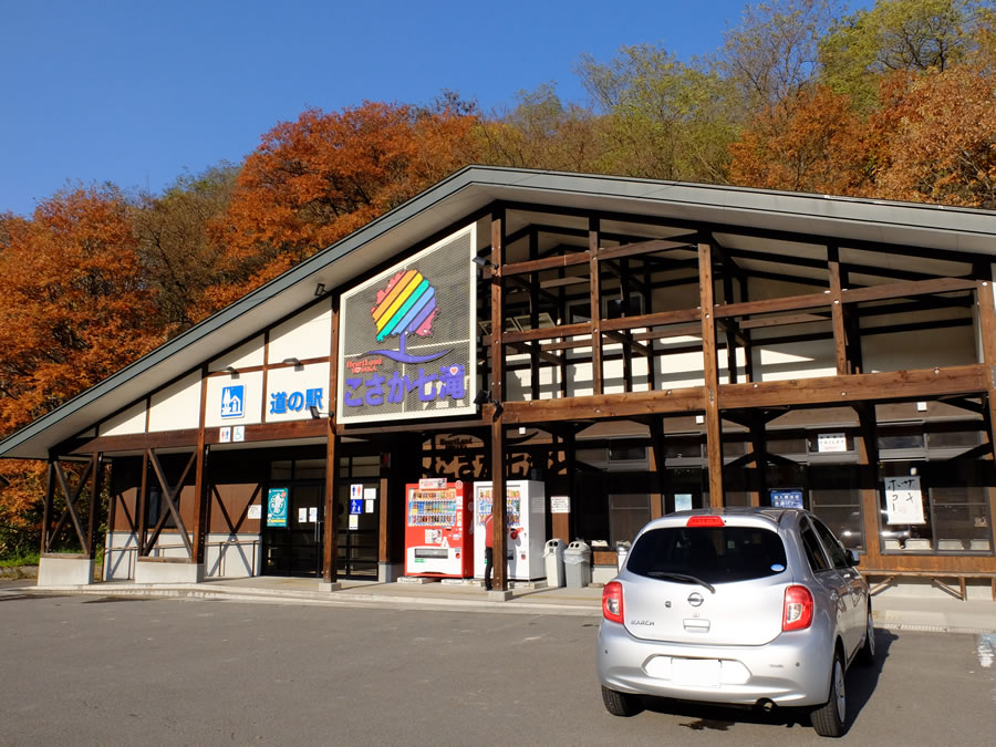
[[[163,341],[141,272],[129,206],[113,188],[74,189],[30,220],[3,220],[0,430],[10,434]],[[30,520],[37,463],[0,461],[0,527]],[[2,551],[3,548],[0,548]]]

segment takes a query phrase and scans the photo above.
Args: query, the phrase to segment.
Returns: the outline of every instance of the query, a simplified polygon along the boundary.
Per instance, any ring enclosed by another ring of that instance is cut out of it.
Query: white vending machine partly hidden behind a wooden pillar
[[[547,541],[547,497],[543,484],[536,480],[508,480],[505,484],[508,530],[505,549],[509,581],[535,581],[547,575],[543,546]],[[485,520],[491,513],[491,484],[474,484],[474,575],[484,578]],[[496,559],[497,562],[497,559]]]

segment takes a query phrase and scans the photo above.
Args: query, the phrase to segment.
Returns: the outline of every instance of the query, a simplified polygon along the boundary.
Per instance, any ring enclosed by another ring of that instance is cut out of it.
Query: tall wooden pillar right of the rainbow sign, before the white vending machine
[[[505,294],[501,268],[505,264],[505,208],[491,214],[491,529],[495,532],[494,578],[491,588],[508,590],[508,563],[505,538],[508,530],[508,496],[505,491]]]

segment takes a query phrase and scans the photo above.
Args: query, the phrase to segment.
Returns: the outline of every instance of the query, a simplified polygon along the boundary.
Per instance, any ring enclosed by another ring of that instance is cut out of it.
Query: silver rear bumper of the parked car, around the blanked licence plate
[[[829,693],[829,637],[826,631],[809,629],[782,633],[761,646],[673,644],[636,639],[623,625],[603,621],[598,674],[602,685],[623,693],[730,705],[770,699],[780,706],[817,706]],[[718,682],[676,679],[673,658],[718,661]]]

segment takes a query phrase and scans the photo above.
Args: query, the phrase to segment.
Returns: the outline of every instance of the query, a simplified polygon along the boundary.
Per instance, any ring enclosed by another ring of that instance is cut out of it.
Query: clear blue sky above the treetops
[[[309,106],[449,89],[488,111],[551,82],[582,103],[582,52],[709,53],[744,3],[0,0],[0,212],[68,183],[158,191]]]

